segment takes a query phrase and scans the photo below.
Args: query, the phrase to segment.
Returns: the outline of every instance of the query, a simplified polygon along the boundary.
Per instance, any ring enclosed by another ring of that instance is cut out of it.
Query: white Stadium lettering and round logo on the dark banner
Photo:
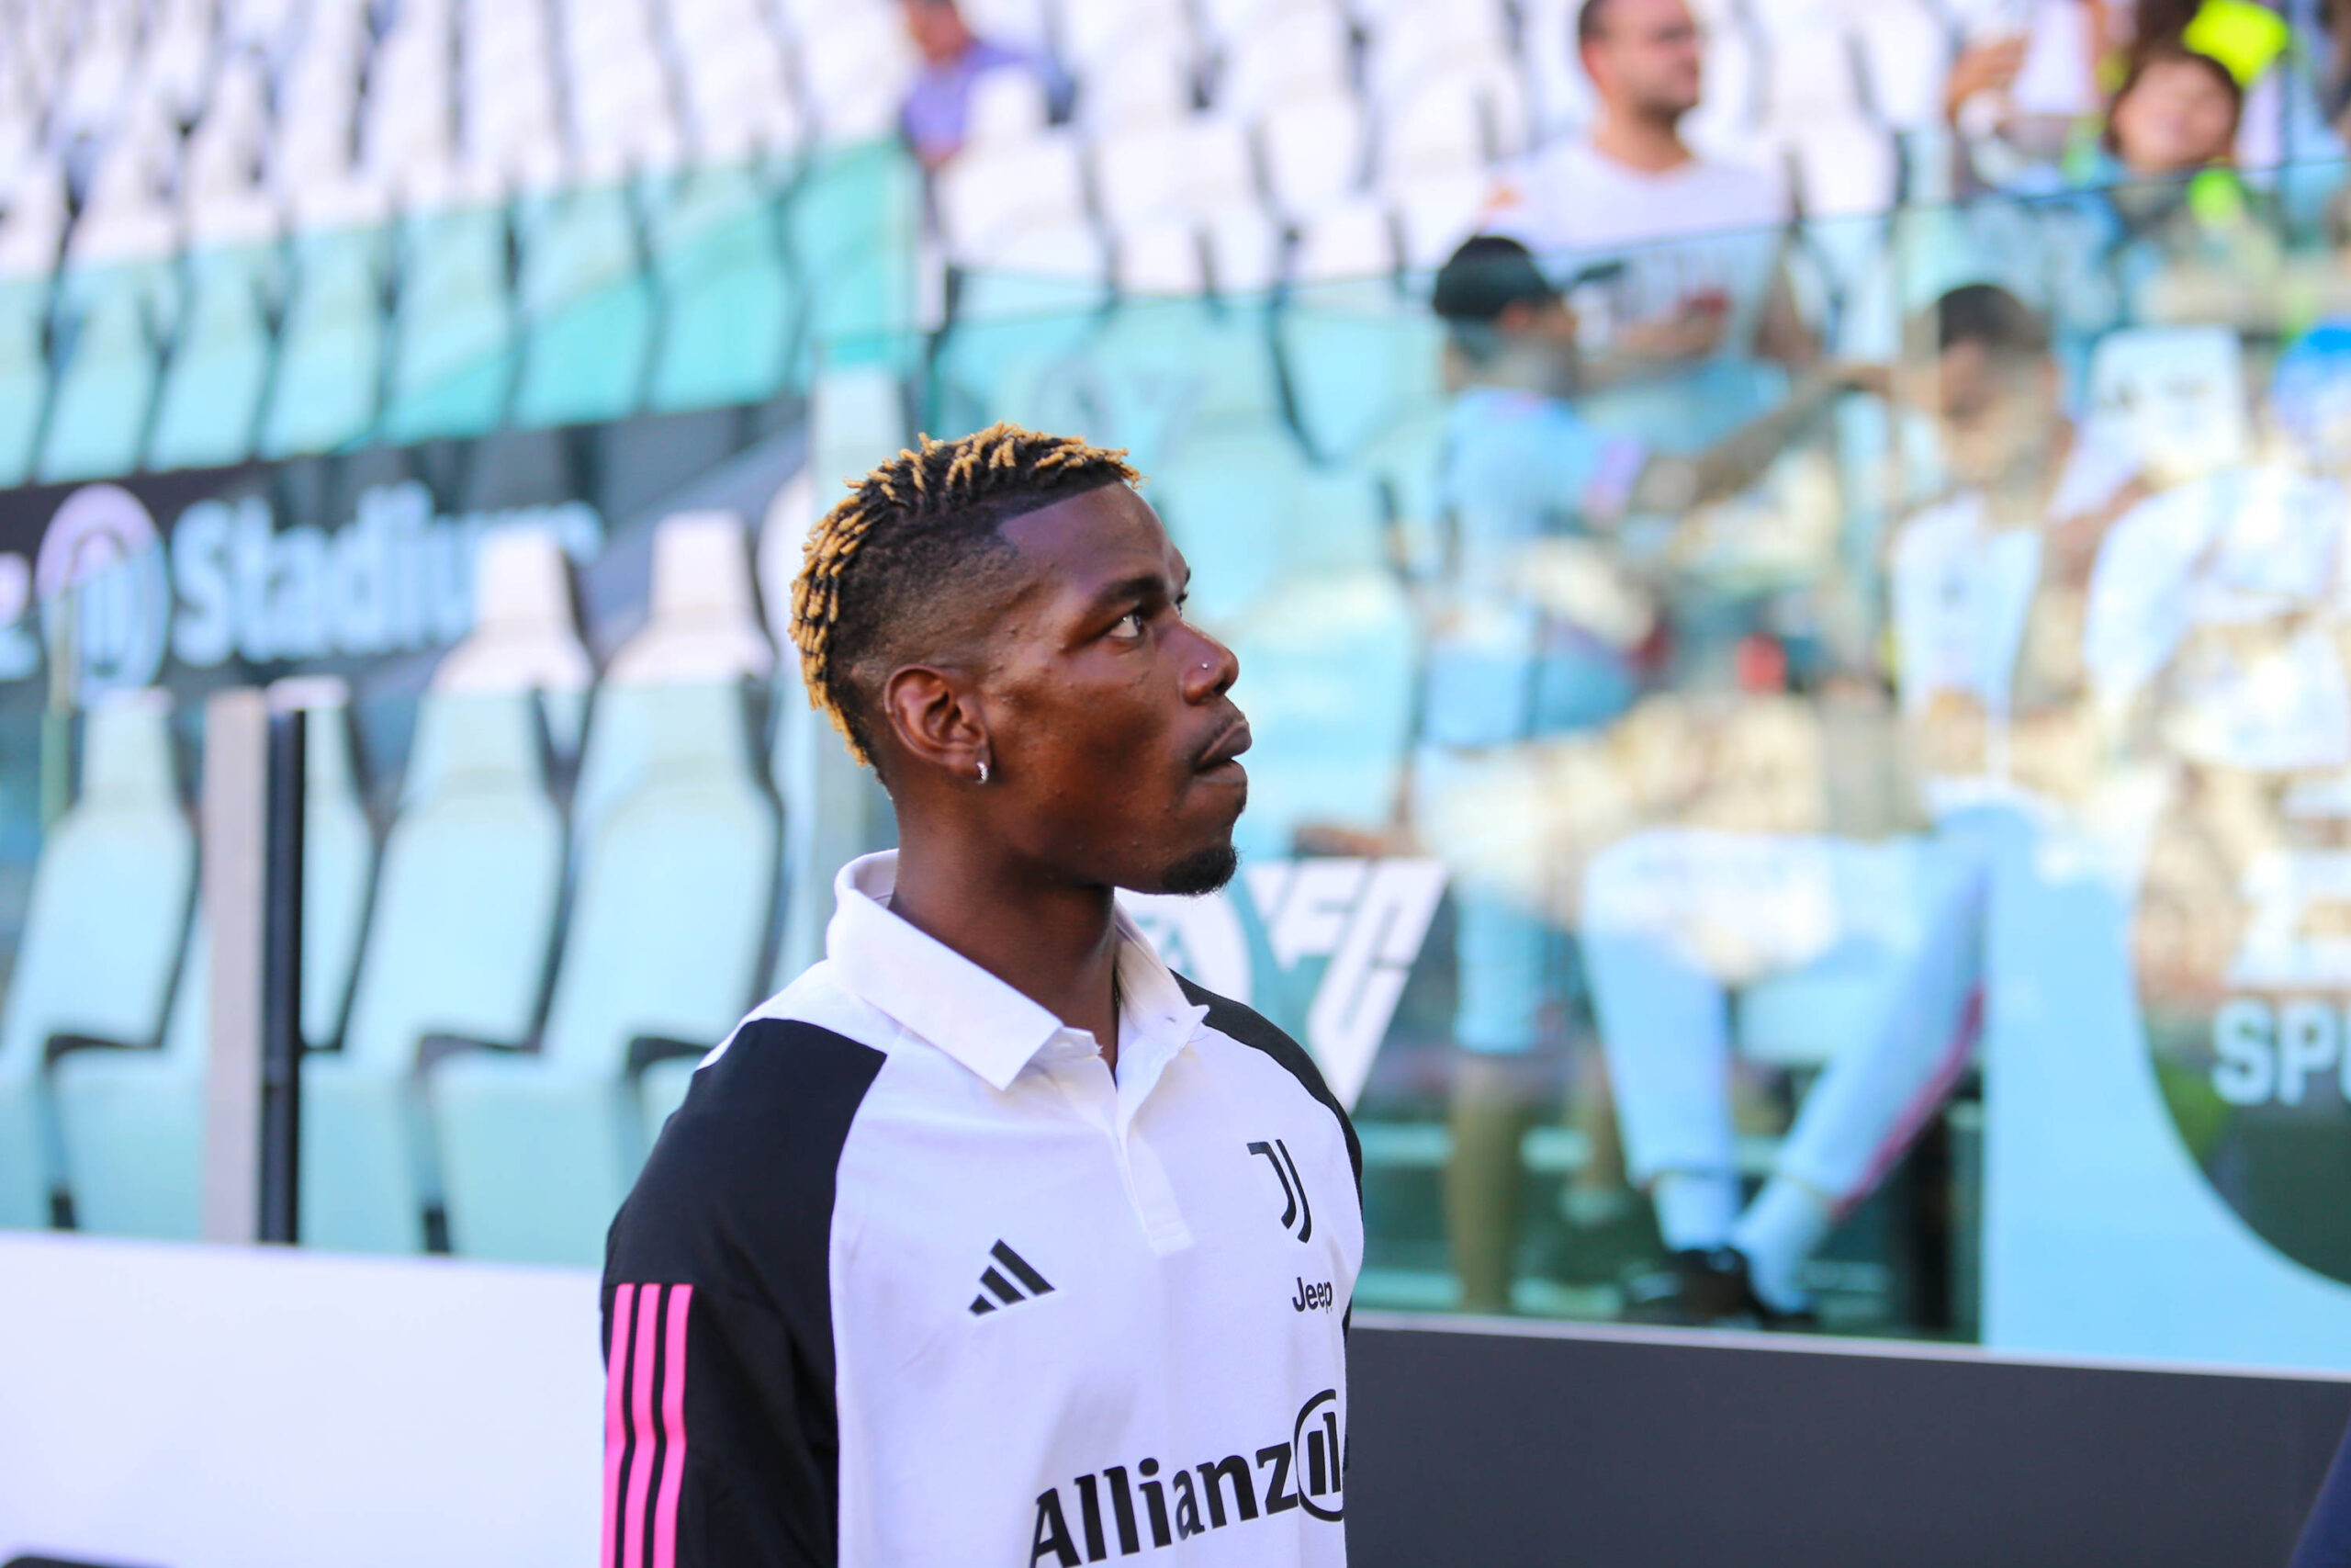
[[[197,501],[169,534],[120,484],[66,496],[33,559],[0,552],[0,679],[45,656],[78,689],[207,670],[444,646],[473,630],[473,562],[496,527],[543,527],[576,562],[604,548],[585,503],[435,515],[414,482],[360,494],[336,529],[280,529],[261,496]]]

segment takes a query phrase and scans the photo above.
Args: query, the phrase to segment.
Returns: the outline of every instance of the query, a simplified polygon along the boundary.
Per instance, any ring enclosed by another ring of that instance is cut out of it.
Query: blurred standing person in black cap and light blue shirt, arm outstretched
[[[1509,1305],[1519,1138],[1533,1117],[1514,1065],[1556,1030],[1566,943],[1547,898],[1498,886],[1495,860],[1526,860],[1533,832],[1453,802],[1514,766],[1514,752],[1617,717],[1636,691],[1634,646],[1653,625],[1648,590],[1610,548],[1632,512],[1679,517],[1744,489],[1850,390],[1813,374],[1787,404],[1716,447],[1679,458],[1603,435],[1568,402],[1582,383],[1578,317],[1516,240],[1469,240],[1436,275],[1453,386],[1441,501],[1448,536],[1425,567],[1427,675],[1415,752],[1415,818],[1455,872],[1467,1051],[1453,1084],[1448,1222],[1465,1305]],[[1465,832],[1465,816],[1481,818]],[[1512,837],[1519,835],[1514,844]]]

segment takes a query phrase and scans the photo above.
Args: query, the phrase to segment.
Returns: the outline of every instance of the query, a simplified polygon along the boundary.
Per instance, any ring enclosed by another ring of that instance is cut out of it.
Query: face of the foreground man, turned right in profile
[[[1072,882],[1206,893],[1248,802],[1239,661],[1183,618],[1190,569],[1126,484],[1004,524],[1023,583],[980,686],[994,827]]]

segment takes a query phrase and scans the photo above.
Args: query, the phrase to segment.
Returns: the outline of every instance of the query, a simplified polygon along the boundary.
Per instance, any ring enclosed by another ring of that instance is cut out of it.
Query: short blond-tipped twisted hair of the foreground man
[[[875,759],[872,712],[891,668],[952,635],[955,599],[1011,564],[997,531],[1011,517],[1103,484],[1140,484],[1126,451],[1067,435],[990,425],[952,442],[917,437],[809,531],[792,583],[792,644],[809,705],[832,717],[849,752]]]

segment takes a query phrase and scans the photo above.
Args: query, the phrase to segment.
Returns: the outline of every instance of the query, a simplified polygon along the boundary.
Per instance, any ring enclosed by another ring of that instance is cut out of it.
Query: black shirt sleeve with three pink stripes
[[[832,1194],[882,1060],[748,1023],[644,1161],[604,1244],[604,1561],[837,1561]]]

